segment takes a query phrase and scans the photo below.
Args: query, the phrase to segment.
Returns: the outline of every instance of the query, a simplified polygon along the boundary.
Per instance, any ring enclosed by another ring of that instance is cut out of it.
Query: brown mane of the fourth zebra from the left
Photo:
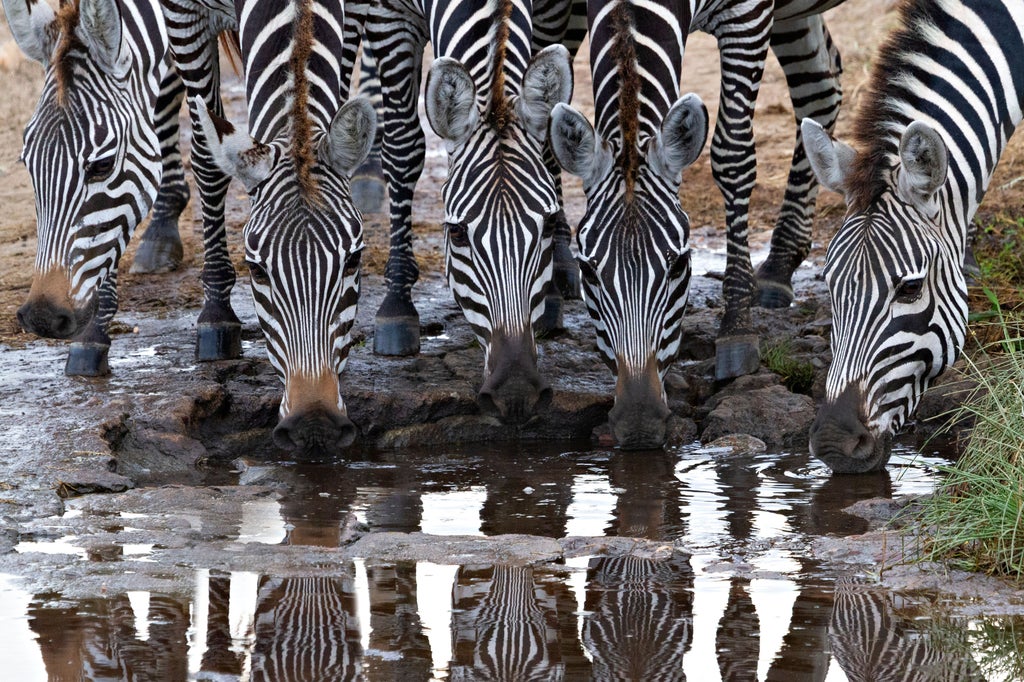
[[[626,201],[633,200],[637,169],[640,166],[640,74],[637,72],[637,49],[633,42],[633,12],[629,2],[621,0],[611,10],[611,54],[618,72],[618,128],[623,148],[618,158],[626,178]]]

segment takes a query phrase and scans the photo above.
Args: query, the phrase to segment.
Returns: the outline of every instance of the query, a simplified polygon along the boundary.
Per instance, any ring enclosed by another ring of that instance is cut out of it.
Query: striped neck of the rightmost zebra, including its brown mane
[[[900,135],[923,121],[949,152],[950,238],[963,246],[1024,104],[1024,4],[910,0],[882,47],[855,125],[862,151],[854,203],[869,202],[896,166]],[[957,229],[958,228],[958,229]]]

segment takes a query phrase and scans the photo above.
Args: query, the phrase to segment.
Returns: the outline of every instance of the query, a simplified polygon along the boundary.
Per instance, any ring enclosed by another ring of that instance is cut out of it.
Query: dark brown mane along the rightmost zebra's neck
[[[893,93],[903,89],[908,57],[931,46],[922,29],[934,25],[940,10],[936,0],[903,0],[898,11],[898,28],[879,49],[866,96],[857,110],[853,140],[858,154],[847,182],[847,202],[854,210],[864,210],[886,189],[887,160],[899,146],[893,124],[910,123]]]

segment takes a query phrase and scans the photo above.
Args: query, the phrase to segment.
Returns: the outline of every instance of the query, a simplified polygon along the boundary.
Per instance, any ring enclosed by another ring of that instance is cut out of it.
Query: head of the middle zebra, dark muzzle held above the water
[[[551,399],[537,368],[534,324],[551,282],[558,210],[544,142],[552,106],[572,95],[568,51],[553,45],[538,52],[521,94],[495,90],[481,111],[469,72],[441,57],[427,79],[426,110],[449,152],[449,286],[484,349],[477,400],[485,413],[518,424]]]

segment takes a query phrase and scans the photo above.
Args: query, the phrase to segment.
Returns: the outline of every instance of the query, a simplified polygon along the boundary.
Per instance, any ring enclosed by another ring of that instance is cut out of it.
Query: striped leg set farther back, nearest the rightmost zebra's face
[[[818,182],[804,151],[800,122],[812,118],[829,132],[843,101],[839,50],[821,14],[775,24],[771,48],[790,86],[797,143],[785,198],[771,236],[771,252],[757,270],[758,299],[766,308],[793,302],[793,273],[811,250],[811,222]]]

